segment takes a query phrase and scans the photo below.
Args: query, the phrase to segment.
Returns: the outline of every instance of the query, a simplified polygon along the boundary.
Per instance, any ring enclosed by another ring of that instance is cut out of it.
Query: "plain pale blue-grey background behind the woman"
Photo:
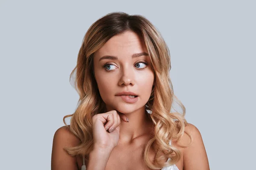
[[[69,82],[82,38],[105,14],[142,14],[163,35],[174,93],[211,170],[255,168],[256,3],[0,1],[0,169],[49,170],[52,139],[79,99]]]

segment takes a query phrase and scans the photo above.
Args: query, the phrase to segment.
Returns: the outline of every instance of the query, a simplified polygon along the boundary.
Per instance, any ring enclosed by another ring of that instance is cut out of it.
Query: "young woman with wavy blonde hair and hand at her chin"
[[[80,98],[64,116],[70,125],[63,119],[55,132],[52,170],[209,170],[170,69],[169,49],[145,17],[113,12],[93,23],[70,75]]]

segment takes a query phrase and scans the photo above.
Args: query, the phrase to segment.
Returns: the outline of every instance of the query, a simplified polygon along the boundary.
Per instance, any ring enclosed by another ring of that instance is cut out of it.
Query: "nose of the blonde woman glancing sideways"
[[[127,67],[122,67],[120,69],[120,78],[119,78],[119,82],[118,85],[119,86],[127,86],[127,85],[131,85],[134,86],[134,71],[132,68],[128,68]]]

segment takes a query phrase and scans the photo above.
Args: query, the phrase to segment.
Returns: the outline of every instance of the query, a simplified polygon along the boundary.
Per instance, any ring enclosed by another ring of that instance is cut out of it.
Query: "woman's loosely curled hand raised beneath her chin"
[[[113,150],[119,140],[119,125],[121,119],[125,122],[127,116],[117,111],[108,111],[93,116],[93,148]]]

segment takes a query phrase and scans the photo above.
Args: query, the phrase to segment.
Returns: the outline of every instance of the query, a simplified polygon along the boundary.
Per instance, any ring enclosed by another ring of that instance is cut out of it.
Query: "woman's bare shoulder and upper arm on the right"
[[[189,145],[183,150],[184,170],[209,170],[209,162],[200,131],[195,125],[185,127],[184,143]]]

